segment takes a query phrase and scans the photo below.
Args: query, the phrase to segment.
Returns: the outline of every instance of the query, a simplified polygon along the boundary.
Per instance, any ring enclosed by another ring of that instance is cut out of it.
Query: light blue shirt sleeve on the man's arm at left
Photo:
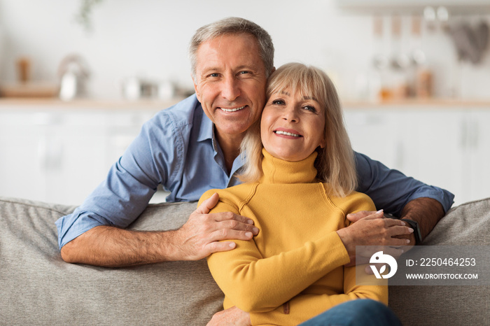
[[[127,227],[136,220],[158,185],[165,185],[169,173],[179,169],[179,141],[172,119],[165,114],[146,122],[139,136],[111,166],[106,180],[73,213],[56,221],[59,248],[93,227]]]

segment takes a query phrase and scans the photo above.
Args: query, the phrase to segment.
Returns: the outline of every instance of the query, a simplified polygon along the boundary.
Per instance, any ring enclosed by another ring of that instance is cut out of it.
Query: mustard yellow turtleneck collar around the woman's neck
[[[298,162],[288,162],[270,155],[262,148],[263,175],[260,183],[313,183],[316,179],[314,162],[318,153],[313,152],[309,157]]]

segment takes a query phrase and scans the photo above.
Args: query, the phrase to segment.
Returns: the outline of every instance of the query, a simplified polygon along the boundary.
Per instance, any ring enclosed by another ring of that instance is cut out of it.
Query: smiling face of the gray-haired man
[[[243,135],[265,104],[265,66],[255,38],[218,36],[197,49],[194,88],[218,136]]]

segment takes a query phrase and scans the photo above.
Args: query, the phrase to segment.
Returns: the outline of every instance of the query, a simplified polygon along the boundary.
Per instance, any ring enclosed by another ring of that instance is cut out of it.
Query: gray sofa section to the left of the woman
[[[152,204],[131,229],[176,229],[195,203]],[[3,325],[206,325],[223,294],[206,260],[107,269],[66,264],[55,221],[73,206],[0,198]]]

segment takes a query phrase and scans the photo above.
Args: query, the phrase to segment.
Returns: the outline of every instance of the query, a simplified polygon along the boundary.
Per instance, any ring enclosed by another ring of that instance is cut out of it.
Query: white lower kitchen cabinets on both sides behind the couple
[[[170,105],[0,101],[0,196],[80,204],[141,125]],[[490,106],[346,105],[344,113],[354,150],[453,192],[456,204],[490,197]]]

